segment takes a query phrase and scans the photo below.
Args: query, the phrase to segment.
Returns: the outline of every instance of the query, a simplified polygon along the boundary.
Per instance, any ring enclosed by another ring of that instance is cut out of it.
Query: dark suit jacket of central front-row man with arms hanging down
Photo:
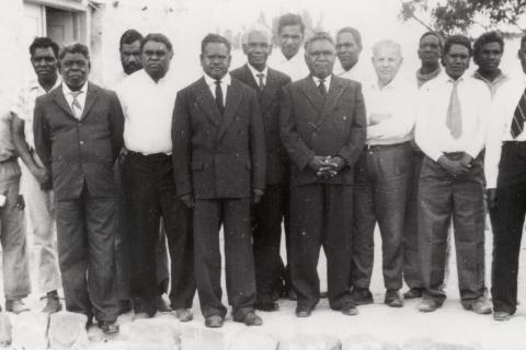
[[[265,188],[265,142],[254,91],[232,79],[221,116],[204,78],[178,93],[172,122],[179,196],[248,198]]]

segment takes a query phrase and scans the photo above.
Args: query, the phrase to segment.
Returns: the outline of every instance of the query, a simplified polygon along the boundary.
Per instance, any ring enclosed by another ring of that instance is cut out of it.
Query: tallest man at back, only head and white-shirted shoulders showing
[[[268,66],[278,70],[293,81],[304,79],[309,74],[305,62],[305,50],[301,47],[305,39],[305,24],[297,14],[287,13],[277,23],[279,50],[268,59]]]

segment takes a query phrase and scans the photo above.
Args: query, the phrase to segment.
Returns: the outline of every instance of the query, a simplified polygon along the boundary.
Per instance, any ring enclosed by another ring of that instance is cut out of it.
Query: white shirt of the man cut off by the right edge
[[[493,96],[491,117],[488,121],[484,159],[485,187],[488,188],[496,187],[502,143],[504,141],[526,141],[525,130],[515,139],[512,137],[513,115],[525,88],[526,82],[521,79],[508,80],[499,88]]]

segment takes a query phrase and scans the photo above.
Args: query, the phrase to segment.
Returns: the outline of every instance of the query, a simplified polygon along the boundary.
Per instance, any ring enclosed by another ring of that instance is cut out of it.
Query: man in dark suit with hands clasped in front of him
[[[351,276],[353,166],[364,148],[365,108],[357,82],[332,74],[334,42],[316,33],[306,42],[310,75],[287,85],[281,136],[290,156],[290,272],[298,294],[296,316],[319,301],[320,246],[328,257],[331,308],[356,315]]]

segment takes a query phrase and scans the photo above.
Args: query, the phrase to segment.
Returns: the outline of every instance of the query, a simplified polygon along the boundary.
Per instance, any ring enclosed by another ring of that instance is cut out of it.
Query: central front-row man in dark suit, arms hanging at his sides
[[[258,98],[231,79],[230,43],[209,34],[202,42],[204,78],[181,90],[173,114],[178,195],[194,207],[195,279],[207,327],[221,327],[219,229],[225,225],[228,301],[233,320],[261,325],[255,315],[250,200],[265,188],[265,142]]]

